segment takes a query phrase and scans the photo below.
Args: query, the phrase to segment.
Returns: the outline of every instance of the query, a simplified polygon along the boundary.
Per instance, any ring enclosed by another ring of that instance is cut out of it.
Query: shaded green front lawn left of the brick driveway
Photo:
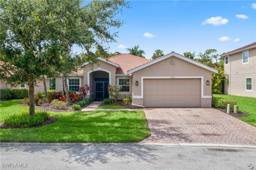
[[[1,102],[1,119],[28,109],[14,103],[19,102]],[[143,111],[54,112],[50,116],[58,121],[38,128],[1,128],[1,142],[139,142],[150,135]]]

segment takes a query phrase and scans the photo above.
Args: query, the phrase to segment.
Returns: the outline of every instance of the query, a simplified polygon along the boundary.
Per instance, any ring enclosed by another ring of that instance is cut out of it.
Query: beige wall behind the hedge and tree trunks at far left
[[[48,90],[49,85],[50,85],[49,79],[45,79],[45,83],[46,83],[46,89]],[[11,87],[5,81],[1,80],[1,89],[13,89],[13,88],[23,88],[23,87],[20,87],[20,85],[16,85],[15,87]],[[25,84],[24,88],[29,89],[27,84]],[[44,83],[43,83],[42,80],[39,80],[39,79],[36,80],[36,86],[34,87],[34,94],[36,95],[36,93],[38,91],[40,91],[40,92],[44,91]]]

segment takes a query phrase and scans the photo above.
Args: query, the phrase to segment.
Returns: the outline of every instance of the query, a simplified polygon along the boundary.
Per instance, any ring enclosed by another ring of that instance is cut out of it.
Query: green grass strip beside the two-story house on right
[[[216,94],[213,96],[222,97],[230,101],[237,101],[238,110],[249,115],[248,117],[240,117],[239,119],[256,127],[256,98]]]

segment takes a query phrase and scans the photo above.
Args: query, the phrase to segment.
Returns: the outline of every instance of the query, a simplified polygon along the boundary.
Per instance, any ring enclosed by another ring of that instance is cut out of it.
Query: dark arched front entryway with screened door
[[[92,71],[90,76],[90,97],[96,101],[102,101],[108,98],[107,86],[110,83],[110,73],[106,71]]]

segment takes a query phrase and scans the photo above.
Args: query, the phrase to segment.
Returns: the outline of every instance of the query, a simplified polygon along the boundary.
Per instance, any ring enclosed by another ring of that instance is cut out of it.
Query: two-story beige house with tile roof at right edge
[[[256,42],[220,55],[224,57],[224,94],[256,97]]]

